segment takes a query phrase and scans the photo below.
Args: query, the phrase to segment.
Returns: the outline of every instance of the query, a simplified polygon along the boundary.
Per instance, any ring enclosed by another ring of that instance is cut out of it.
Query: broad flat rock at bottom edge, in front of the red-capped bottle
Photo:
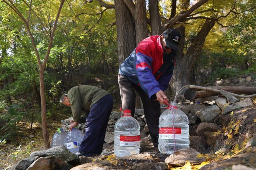
[[[72,168],[71,170],[168,170],[168,166],[164,162],[158,162],[155,154],[137,154],[125,156],[122,158],[108,160],[96,160],[94,162],[82,164]]]

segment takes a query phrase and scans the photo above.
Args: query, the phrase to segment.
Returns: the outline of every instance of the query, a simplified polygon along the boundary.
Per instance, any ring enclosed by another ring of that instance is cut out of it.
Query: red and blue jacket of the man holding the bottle
[[[165,61],[164,55],[168,55]],[[154,100],[156,92],[164,91],[168,87],[175,57],[175,51],[164,54],[160,36],[150,36],[142,40],[125,59],[119,68],[119,74],[140,86]]]

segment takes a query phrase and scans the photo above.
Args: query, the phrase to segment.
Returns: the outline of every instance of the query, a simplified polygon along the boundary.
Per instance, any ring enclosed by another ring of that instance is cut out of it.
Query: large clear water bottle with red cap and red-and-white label
[[[115,124],[114,153],[124,157],[140,153],[140,124],[131,116],[130,110],[122,111]]]

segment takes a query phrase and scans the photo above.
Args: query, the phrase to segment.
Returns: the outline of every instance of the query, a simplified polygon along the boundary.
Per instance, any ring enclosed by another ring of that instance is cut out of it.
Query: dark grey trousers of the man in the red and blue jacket
[[[153,143],[158,142],[158,125],[160,117],[160,103],[149,99],[148,94],[142,90],[140,86],[135,85],[127,77],[118,74],[118,84],[120,87],[120,95],[122,100],[122,109],[131,110],[134,117],[135,110],[135,90],[140,95],[142,100],[145,118],[148,124],[149,134],[152,137]]]

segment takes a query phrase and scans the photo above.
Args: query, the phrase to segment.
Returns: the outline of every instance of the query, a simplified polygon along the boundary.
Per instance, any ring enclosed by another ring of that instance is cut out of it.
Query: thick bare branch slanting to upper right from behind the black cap
[[[184,18],[188,17],[192,12],[194,12],[194,10],[196,10],[197,8],[199,8],[200,6],[205,4],[207,1],[208,0],[200,0],[199,2],[194,4],[190,9],[188,9],[185,13],[178,14],[177,16],[172,18],[172,20],[170,20],[168,23],[164,24],[164,26],[163,26],[164,30],[166,30],[167,28],[170,28],[171,26],[176,24],[178,21],[183,20]]]

